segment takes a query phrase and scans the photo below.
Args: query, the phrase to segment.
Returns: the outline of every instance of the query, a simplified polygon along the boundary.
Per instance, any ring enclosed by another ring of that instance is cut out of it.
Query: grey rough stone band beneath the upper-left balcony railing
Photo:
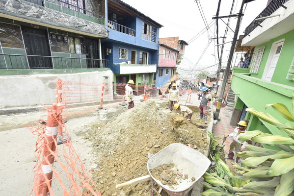
[[[64,27],[91,33],[104,38],[108,37],[108,33],[104,25],[93,23],[69,14],[64,14],[62,12],[24,0],[0,0],[0,13],[38,23],[54,25],[56,27]],[[78,27],[79,25],[87,26]]]

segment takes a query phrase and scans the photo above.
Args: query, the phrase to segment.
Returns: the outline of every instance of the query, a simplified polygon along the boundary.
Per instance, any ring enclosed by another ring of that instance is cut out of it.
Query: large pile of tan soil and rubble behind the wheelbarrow
[[[208,148],[206,132],[186,119],[172,128],[175,115],[148,100],[91,126],[86,138],[98,165],[92,177],[103,196],[150,195],[150,181],[115,189],[116,184],[148,174],[148,153],[176,142],[191,144],[200,152]]]

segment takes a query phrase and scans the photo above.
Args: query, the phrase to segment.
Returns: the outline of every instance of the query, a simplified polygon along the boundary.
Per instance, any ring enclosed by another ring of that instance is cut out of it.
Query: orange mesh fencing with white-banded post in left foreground
[[[101,196],[78,156],[56,104],[47,109],[46,124],[29,126],[37,136],[35,144],[36,165],[33,169],[34,187],[31,196]],[[57,147],[57,129],[68,142]]]

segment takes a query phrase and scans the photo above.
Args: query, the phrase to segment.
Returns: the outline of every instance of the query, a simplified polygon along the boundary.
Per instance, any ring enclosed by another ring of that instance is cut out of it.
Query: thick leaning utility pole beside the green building
[[[231,68],[231,63],[232,63],[232,59],[233,59],[233,55],[234,55],[234,51],[235,51],[235,46],[236,46],[236,42],[237,42],[237,37],[238,37],[238,33],[239,33],[241,17],[243,16],[242,12],[243,12],[243,6],[244,6],[245,1],[247,1],[247,0],[242,0],[241,8],[240,8],[240,11],[238,14],[238,20],[237,20],[237,25],[236,25],[233,41],[232,41],[230,55],[229,55],[226,70],[224,72],[223,81],[222,81],[222,85],[221,85],[221,89],[220,89],[220,95],[219,95],[218,102],[216,105],[216,111],[215,111],[216,120],[219,117],[220,106],[221,106],[222,99],[223,99],[223,96],[224,96],[224,93],[226,90],[228,78],[230,76],[230,68]]]

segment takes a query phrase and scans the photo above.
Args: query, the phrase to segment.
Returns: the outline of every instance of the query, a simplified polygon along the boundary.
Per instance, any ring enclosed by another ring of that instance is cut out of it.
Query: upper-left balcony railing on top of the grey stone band
[[[77,4],[69,3],[67,2],[67,0],[44,0],[44,2],[45,2],[45,7],[48,7],[50,9],[53,9],[65,14],[74,15],[78,18],[82,18],[94,23],[105,25],[104,16],[101,16],[97,13],[84,9],[83,5],[79,5],[79,2],[80,2],[79,0],[71,1],[71,2],[77,2]]]

